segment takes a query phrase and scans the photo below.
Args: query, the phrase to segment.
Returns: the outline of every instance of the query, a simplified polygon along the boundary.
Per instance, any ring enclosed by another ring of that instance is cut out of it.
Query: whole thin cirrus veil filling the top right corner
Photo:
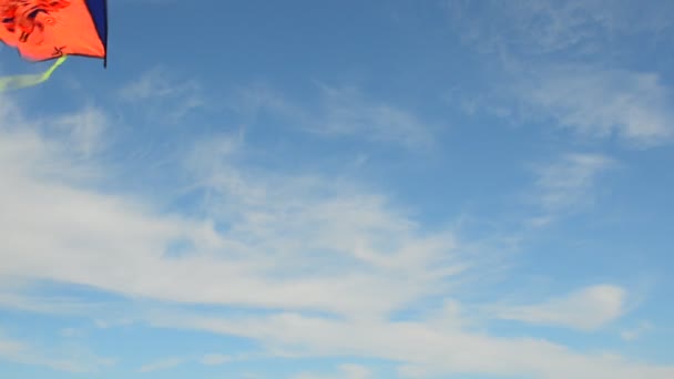
[[[501,82],[489,94],[460,100],[512,121],[561,126],[586,141],[616,140],[647,148],[672,143],[672,88],[653,64],[623,57],[660,58],[671,50],[674,10],[666,1],[448,1],[456,28],[490,62]],[[464,20],[470,20],[466,22]],[[652,43],[625,43],[649,35]]]

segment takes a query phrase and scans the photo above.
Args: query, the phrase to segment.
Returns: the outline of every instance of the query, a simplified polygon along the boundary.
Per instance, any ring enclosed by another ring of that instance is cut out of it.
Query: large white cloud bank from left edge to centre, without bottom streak
[[[0,143],[8,146],[0,156],[3,276],[378,317],[441,291],[445,277],[467,267],[451,233],[421,233],[382,196],[319,176],[261,175],[216,154],[202,166],[197,156],[190,164],[212,201],[195,222],[64,180],[64,148],[37,133],[4,133]],[[42,162],[62,163],[50,171]],[[181,239],[194,247],[180,259],[165,256]]]

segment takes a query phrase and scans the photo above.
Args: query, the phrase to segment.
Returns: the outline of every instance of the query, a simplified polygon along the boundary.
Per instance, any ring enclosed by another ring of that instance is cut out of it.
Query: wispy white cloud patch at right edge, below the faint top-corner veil
[[[674,136],[674,98],[655,74],[568,66],[523,79],[518,91],[533,112],[584,136],[616,136],[639,147]]]

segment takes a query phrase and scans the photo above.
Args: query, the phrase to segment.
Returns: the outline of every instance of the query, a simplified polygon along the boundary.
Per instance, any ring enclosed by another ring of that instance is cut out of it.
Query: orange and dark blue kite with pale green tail
[[[0,41],[31,62],[57,60],[41,74],[0,78],[0,92],[40,84],[68,55],[108,64],[106,0],[0,0]]]

